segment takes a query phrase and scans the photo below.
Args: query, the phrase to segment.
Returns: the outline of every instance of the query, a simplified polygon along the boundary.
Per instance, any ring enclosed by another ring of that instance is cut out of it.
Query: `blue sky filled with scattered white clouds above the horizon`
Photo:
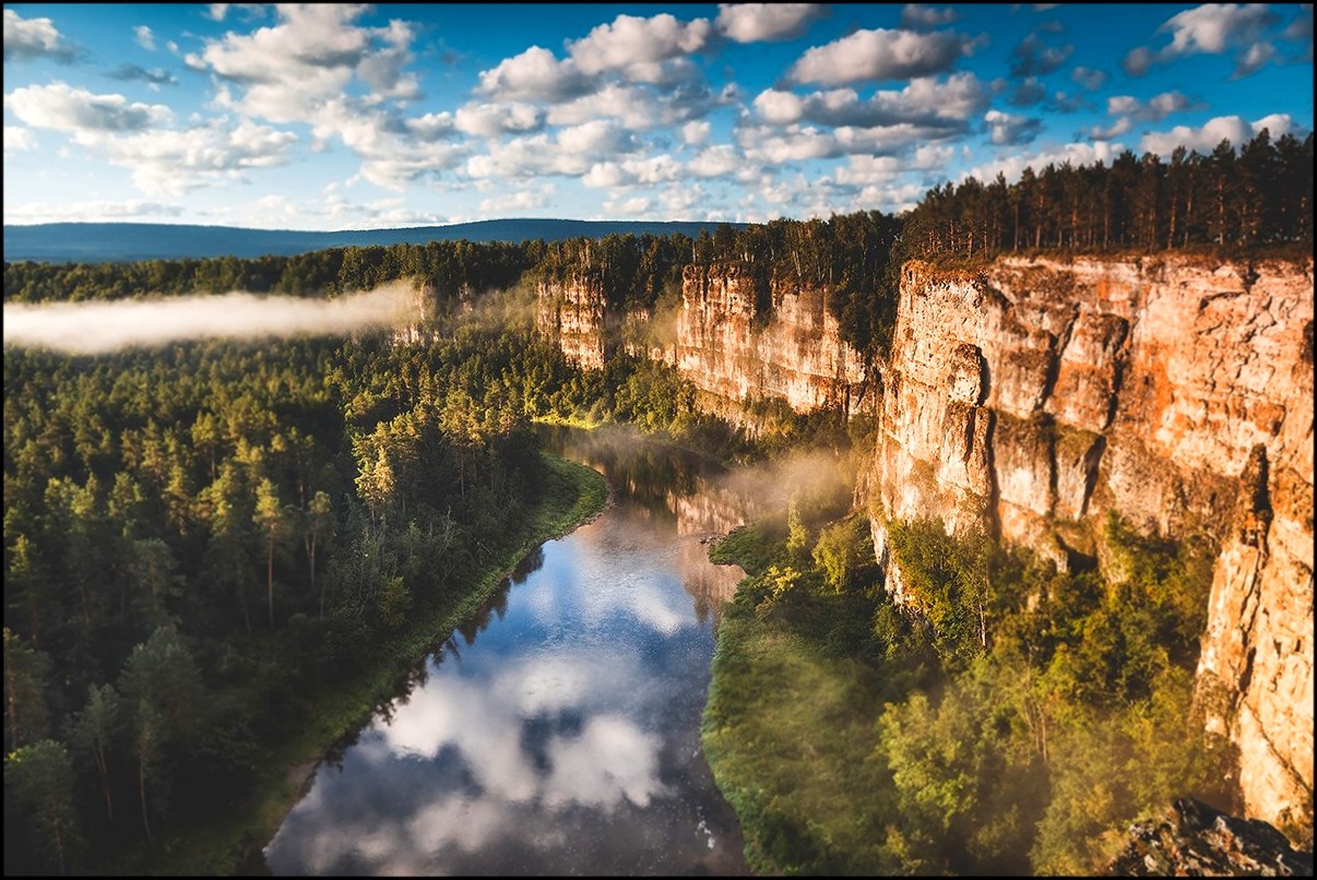
[[[5,4],[4,223],[900,212],[1313,126],[1312,4]]]

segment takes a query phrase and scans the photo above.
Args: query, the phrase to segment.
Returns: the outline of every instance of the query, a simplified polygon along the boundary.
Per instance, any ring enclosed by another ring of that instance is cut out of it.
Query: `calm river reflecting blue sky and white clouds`
[[[743,498],[695,460],[556,431],[615,505],[552,540],[323,763],[277,875],[747,873],[699,746]]]

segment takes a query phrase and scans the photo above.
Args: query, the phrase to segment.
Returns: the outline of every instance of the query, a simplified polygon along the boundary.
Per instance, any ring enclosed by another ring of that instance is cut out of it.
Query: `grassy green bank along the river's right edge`
[[[856,649],[872,599],[818,590],[772,528],[738,530],[710,559],[749,572],[723,611],[701,727],[747,862],[764,875],[881,873],[871,808],[890,789],[873,760],[882,690]],[[795,582],[774,594],[784,570]]]

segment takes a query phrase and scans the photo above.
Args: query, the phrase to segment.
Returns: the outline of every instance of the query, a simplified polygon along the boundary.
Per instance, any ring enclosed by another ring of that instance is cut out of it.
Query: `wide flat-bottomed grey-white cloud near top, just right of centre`
[[[865,80],[911,79],[950,70],[971,49],[948,32],[856,30],[805,51],[789,76],[798,83],[844,86]]]

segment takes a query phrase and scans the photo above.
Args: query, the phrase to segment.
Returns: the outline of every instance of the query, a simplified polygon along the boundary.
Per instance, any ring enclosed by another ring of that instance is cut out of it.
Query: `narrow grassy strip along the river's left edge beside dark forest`
[[[398,680],[489,599],[536,547],[593,520],[607,506],[608,486],[595,470],[545,454],[548,480],[535,514],[522,524],[523,537],[493,563],[460,598],[417,614],[403,632],[382,642],[378,661],[336,684],[312,703],[302,732],[273,744],[258,760],[255,790],[227,815],[192,829],[176,829],[159,846],[125,859],[116,873],[230,876],[267,873],[261,850],[302,797],[319,761],[365,723],[396,693]],[[510,523],[510,527],[515,524]]]

